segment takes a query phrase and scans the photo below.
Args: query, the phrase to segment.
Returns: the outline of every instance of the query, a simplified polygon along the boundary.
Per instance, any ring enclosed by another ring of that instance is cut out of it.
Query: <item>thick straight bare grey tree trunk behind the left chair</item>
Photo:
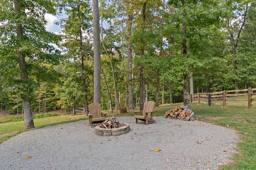
[[[98,0],[92,0],[93,15],[93,102],[100,104],[100,20]]]

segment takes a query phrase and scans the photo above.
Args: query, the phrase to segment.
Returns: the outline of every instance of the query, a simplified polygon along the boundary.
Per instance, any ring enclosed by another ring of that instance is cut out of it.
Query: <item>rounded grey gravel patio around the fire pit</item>
[[[98,136],[97,124],[84,120],[21,133],[0,145],[0,169],[218,170],[239,142],[234,130],[200,121],[116,119],[130,124],[130,132]]]

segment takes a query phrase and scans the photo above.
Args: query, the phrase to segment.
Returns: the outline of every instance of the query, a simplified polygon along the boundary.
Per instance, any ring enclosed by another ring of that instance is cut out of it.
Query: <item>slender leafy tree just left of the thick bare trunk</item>
[[[66,11],[68,18],[63,18],[60,23],[62,32],[64,32],[65,43],[63,46],[66,50],[72,51],[70,56],[77,56],[81,62],[81,78],[84,88],[84,99],[86,114],[88,114],[88,75],[84,68],[84,59],[88,59],[92,56],[90,45],[90,31],[92,17],[90,2],[88,0],[74,0],[74,1],[62,1],[62,7]],[[69,52],[68,52],[69,53]]]

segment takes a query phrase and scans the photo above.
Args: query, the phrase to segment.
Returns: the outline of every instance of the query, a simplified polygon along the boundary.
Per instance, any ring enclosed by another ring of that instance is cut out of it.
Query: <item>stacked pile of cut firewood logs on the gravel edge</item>
[[[188,106],[178,106],[174,107],[172,110],[168,110],[164,114],[164,118],[180,119],[185,121],[193,121],[194,112],[188,108]]]

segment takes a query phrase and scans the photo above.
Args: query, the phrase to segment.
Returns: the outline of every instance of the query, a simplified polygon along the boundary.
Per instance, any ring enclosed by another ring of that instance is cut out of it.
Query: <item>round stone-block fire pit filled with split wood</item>
[[[130,125],[120,123],[114,116],[95,127],[95,134],[99,136],[118,136],[130,131]]]

